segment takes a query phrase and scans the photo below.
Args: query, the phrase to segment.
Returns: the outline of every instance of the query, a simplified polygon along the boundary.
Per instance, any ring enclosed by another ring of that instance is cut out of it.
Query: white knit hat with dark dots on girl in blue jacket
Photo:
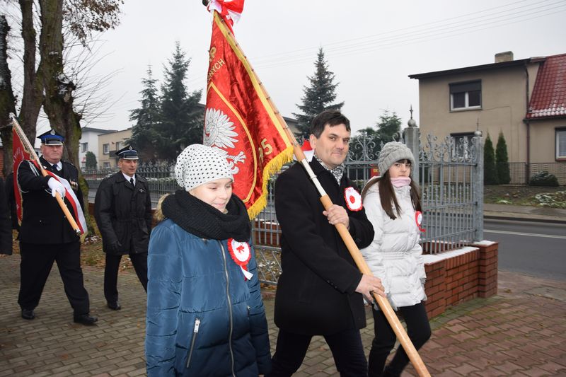
[[[185,191],[220,178],[233,180],[230,166],[219,149],[192,144],[177,156],[175,178]]]

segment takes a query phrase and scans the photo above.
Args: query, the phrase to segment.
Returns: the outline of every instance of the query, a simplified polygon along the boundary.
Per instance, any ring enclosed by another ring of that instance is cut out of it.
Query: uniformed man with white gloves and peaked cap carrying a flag
[[[38,139],[41,139],[40,163],[43,168],[67,180],[69,188],[74,190],[77,201],[83,208],[83,195],[78,183],[79,171],[70,163],[61,161],[64,137],[50,130]],[[23,202],[20,231],[21,286],[18,296],[22,318],[35,318],[34,309],[40,302],[53,262],[57,261],[65,294],[73,308],[74,322],[93,325],[98,318],[89,314],[90,303],[81,269],[81,241],[54,199],[55,192],[65,197],[64,185],[49,175],[42,176],[31,161],[20,164],[17,177]],[[69,199],[64,200],[73,213]]]

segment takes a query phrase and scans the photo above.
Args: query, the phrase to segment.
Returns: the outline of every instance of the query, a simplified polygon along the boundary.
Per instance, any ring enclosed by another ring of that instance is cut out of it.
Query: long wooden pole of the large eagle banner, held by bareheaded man
[[[219,19],[221,20],[221,23],[224,23],[224,20],[222,20],[221,17],[219,17]],[[318,194],[320,195],[320,202],[322,202],[324,208],[328,210],[333,205],[332,200],[330,199],[330,197],[328,197],[322,185],[320,185],[320,182],[318,182],[318,178],[316,178],[316,175],[311,169],[311,166],[308,164],[308,161],[306,160],[306,157],[304,155],[303,150],[301,149],[301,146],[299,146],[299,143],[296,141],[293,132],[291,132],[291,129],[289,129],[287,122],[285,122],[281,113],[279,112],[279,110],[277,110],[275,104],[271,100],[270,96],[267,94],[267,91],[265,90],[265,87],[261,83],[258,75],[255,74],[255,71],[253,70],[253,68],[251,68],[250,62],[248,62],[246,54],[243,53],[243,50],[241,49],[240,45],[238,45],[238,42],[236,42],[236,38],[233,37],[233,34],[229,30],[227,30],[227,32],[229,37],[231,37],[233,41],[233,45],[239,50],[241,57],[243,57],[244,59],[243,64],[247,65],[250,68],[249,71],[251,71],[251,73],[253,74],[253,77],[250,77],[250,79],[252,79],[252,81],[255,80],[258,86],[260,86],[260,88],[262,89],[265,98],[267,98],[267,101],[272,106],[273,111],[277,116],[277,119],[279,120],[279,122],[281,122],[285,130],[285,133],[287,134],[287,137],[289,137],[289,141],[291,141],[291,144],[293,144],[293,151],[297,161],[301,163],[301,165],[306,170],[306,173],[308,174],[309,178],[311,178],[311,180],[313,181],[313,184],[315,185],[316,189],[318,190]],[[362,272],[362,274],[373,276],[374,274],[371,272],[371,269],[369,269],[369,266],[367,265],[366,261],[364,260],[364,257],[362,256],[362,253],[359,252],[359,248],[352,239],[352,236],[350,235],[350,232],[347,230],[346,226],[344,224],[335,224],[335,227],[338,233],[340,234],[340,237],[344,241],[346,247],[350,251],[350,255],[352,255],[352,258],[354,259],[354,262],[356,262],[356,265],[360,270],[360,272]],[[379,308],[381,308],[381,311],[383,311],[383,314],[386,316],[389,325],[391,325],[391,327],[393,328],[395,335],[397,335],[397,339],[399,340],[400,344],[403,346],[403,349],[405,349],[407,356],[409,356],[412,365],[415,367],[417,373],[419,373],[419,376],[429,377],[430,373],[428,372],[427,367],[422,362],[422,359],[420,358],[417,349],[415,349],[415,346],[412,344],[410,338],[407,335],[407,332],[405,332],[403,325],[401,325],[399,318],[397,318],[397,315],[395,314],[395,311],[393,311],[393,308],[391,308],[391,305],[389,304],[387,298],[379,296],[378,294],[373,294],[373,296],[374,299],[379,304]]]

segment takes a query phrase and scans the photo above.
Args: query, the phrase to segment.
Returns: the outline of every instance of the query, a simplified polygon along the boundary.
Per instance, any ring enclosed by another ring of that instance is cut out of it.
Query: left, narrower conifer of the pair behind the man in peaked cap
[[[129,120],[135,121],[132,137],[127,141],[138,151],[142,161],[157,158],[157,146],[164,143],[158,133],[160,123],[160,103],[157,93],[157,80],[153,78],[151,66],[147,69],[147,77],[141,80],[144,88],[141,94],[141,108],[130,111]]]

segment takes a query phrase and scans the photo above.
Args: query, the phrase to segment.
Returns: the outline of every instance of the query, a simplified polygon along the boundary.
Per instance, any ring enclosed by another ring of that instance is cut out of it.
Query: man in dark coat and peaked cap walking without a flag
[[[147,248],[151,231],[151,197],[147,180],[136,174],[138,156],[132,146],[116,152],[120,171],[105,178],[96,191],[94,216],[106,253],[104,296],[108,308],[120,310],[118,268],[129,254],[147,291]]]

